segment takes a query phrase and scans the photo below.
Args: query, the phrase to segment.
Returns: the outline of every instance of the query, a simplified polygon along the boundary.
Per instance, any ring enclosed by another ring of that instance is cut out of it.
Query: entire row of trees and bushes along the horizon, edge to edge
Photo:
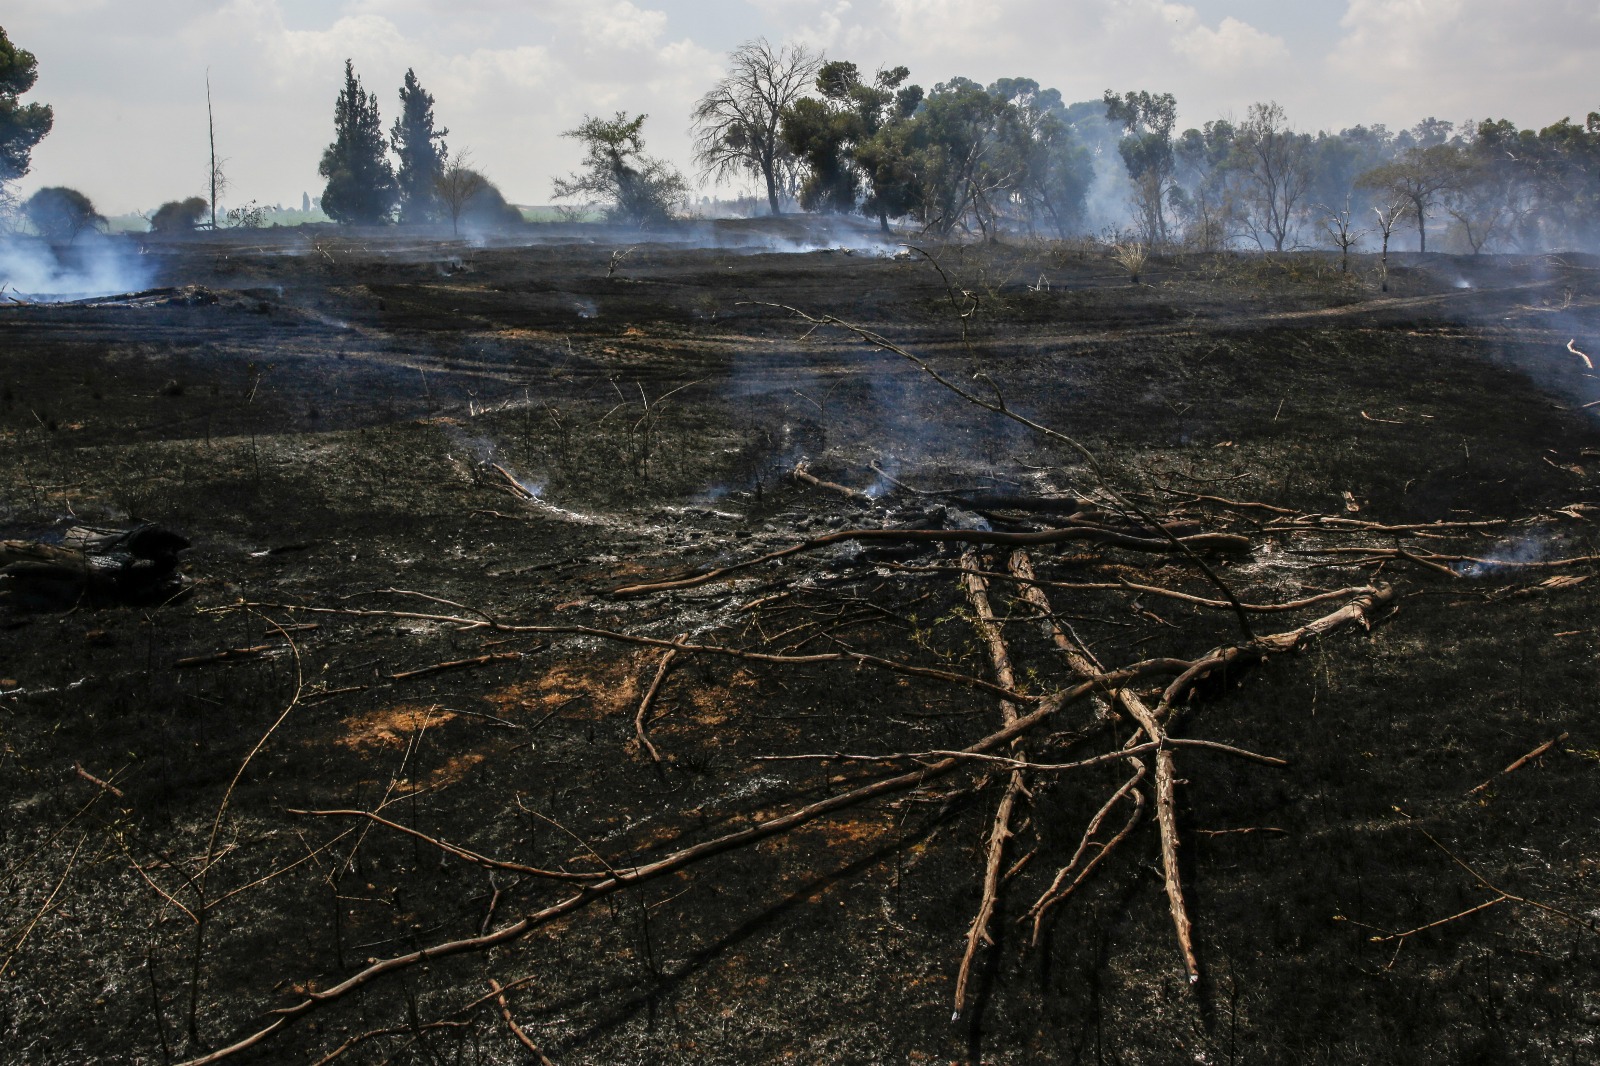
[[[35,77],[34,56],[0,29],[0,197],[51,128],[48,106],[19,101]],[[346,62],[334,139],[318,166],[330,218],[454,229],[523,221],[464,152],[450,154],[450,131],[437,126],[434,96],[414,70],[398,99],[386,130],[376,96]],[[598,210],[653,224],[683,211],[690,181],[646,150],[645,122],[629,112],[584,115],[563,134],[584,150],[581,166],[552,187],[574,205],[571,218]],[[1267,101],[1243,118],[1179,130],[1171,93],[1107,90],[1069,104],[1032,78],[963,77],[923,90],[906,67],[866,74],[805,46],[754,40],[730,53],[690,122],[701,179],[750,179],[773,214],[856,213],[883,229],[902,222],[984,240],[1101,230],[1198,251],[1322,245],[1347,256],[1368,242],[1387,251],[1402,240],[1470,253],[1600,245],[1600,112],[1541,130],[1424,118],[1397,133],[1382,125],[1306,133]],[[70,238],[99,221],[70,189],[35,198],[21,206],[40,232]],[[150,222],[194,229],[208,206],[203,197],[174,200]],[[259,224],[248,208],[230,216]]]

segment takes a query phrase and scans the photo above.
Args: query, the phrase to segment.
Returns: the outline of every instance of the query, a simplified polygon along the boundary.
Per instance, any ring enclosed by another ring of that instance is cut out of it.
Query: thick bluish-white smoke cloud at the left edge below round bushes
[[[70,245],[0,234],[0,290],[8,299],[59,303],[150,287],[155,269],[123,237],[85,232]]]

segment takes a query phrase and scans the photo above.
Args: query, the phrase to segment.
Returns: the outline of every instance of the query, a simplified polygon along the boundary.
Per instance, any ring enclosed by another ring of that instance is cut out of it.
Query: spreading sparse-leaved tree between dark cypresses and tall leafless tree
[[[672,218],[688,195],[688,182],[666,160],[645,154],[640,130],[648,115],[613,118],[584,115],[582,125],[563,133],[584,146],[582,168],[557,178],[557,200],[603,205],[606,216],[634,226]]]

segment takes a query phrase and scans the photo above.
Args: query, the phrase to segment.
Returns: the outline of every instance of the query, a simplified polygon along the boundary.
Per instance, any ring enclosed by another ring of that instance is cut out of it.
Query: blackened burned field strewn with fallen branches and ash
[[[678,237],[0,309],[8,1061],[1594,1056],[1594,262]]]

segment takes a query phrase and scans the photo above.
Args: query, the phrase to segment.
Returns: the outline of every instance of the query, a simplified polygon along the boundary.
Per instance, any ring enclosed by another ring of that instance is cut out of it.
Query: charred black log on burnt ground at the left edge
[[[75,527],[59,544],[0,541],[0,573],[74,591],[139,599],[178,583],[178,555],[189,541],[158,525],[131,530]]]

